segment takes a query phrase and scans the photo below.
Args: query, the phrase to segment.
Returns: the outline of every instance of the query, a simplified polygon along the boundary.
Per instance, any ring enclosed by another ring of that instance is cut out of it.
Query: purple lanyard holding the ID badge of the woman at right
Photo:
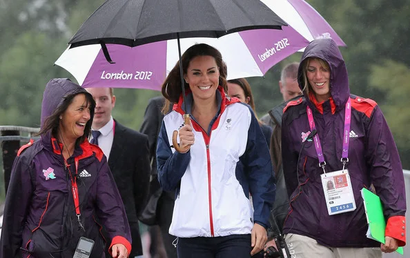
[[[306,106],[306,112],[308,114],[309,119],[309,126],[311,126],[311,132],[316,130],[315,121],[313,120],[313,114],[311,108]],[[351,105],[350,105],[350,98],[347,100],[346,106],[344,107],[344,132],[343,132],[343,152],[342,152],[342,161],[343,163],[343,170],[344,165],[346,162],[349,162],[349,158],[347,157],[349,153],[349,132],[350,132],[350,122],[351,122]],[[322,167],[323,172],[326,174],[324,170],[324,166],[326,165],[326,161],[324,161],[322,145],[320,144],[319,135],[315,134],[313,137],[313,141],[315,141],[315,149],[316,153],[318,154],[319,159],[319,166]]]

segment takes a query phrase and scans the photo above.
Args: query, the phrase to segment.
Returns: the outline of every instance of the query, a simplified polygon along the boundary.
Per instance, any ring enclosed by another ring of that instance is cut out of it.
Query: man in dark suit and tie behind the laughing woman
[[[129,257],[142,257],[138,215],[145,206],[150,179],[148,137],[122,126],[113,119],[113,88],[87,88],[95,100],[91,143],[97,144],[108,159],[119,194],[126,209],[133,239]],[[108,241],[109,242],[109,241]],[[106,257],[108,248],[106,250]]]

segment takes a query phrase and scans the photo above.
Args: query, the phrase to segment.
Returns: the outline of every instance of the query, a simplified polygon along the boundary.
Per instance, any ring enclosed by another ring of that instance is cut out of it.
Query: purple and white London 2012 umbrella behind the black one
[[[289,26],[282,30],[246,30],[220,38],[180,39],[184,52],[195,43],[217,48],[228,67],[228,79],[263,76],[272,66],[310,41],[331,37],[345,46],[322,16],[302,0],[262,0]],[[68,47],[55,62],[68,70],[79,85],[87,87],[146,88],[161,90],[168,72],[179,60],[177,40],[159,41],[130,48],[107,44],[115,63],[108,63],[98,44]]]

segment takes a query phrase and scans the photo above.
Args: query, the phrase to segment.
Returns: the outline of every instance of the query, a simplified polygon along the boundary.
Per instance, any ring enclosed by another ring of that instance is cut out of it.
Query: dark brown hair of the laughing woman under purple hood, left
[[[60,125],[59,117],[67,110],[68,106],[70,106],[75,96],[79,94],[86,95],[86,104],[87,105],[90,104],[90,120],[88,120],[88,122],[86,123],[86,126],[84,128],[84,135],[82,135],[75,141],[75,146],[76,147],[79,146],[80,143],[82,143],[85,139],[87,139],[88,136],[90,136],[92,118],[94,117],[94,109],[95,109],[95,101],[94,99],[92,99],[92,95],[88,92],[77,92],[72,95],[64,96],[63,97],[64,101],[61,103],[60,106],[58,106],[54,110],[54,112],[52,112],[52,115],[46,118],[43,126],[41,126],[40,132],[37,133],[37,136],[45,135],[47,132],[51,131],[52,137],[55,137],[56,139],[58,139],[57,136],[59,134],[59,125]]]

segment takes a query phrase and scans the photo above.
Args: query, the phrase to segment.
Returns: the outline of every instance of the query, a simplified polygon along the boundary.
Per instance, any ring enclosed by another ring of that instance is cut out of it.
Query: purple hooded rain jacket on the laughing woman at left
[[[48,82],[41,107],[42,126],[64,96],[73,93],[88,94],[68,79]],[[112,239],[111,246],[124,244],[130,252],[126,212],[106,156],[98,146],[84,141],[67,160],[73,175],[75,157],[79,159],[77,185],[85,231],[79,228],[64,158],[48,132],[22,146],[14,160],[1,231],[1,258],[71,258],[81,236],[95,241],[90,257],[105,257],[100,224]]]

